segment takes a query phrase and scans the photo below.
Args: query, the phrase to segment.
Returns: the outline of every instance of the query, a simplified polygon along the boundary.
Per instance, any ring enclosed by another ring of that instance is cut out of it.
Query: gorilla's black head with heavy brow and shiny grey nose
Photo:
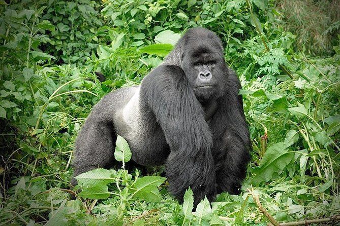
[[[213,32],[194,31],[184,35],[181,67],[197,99],[209,102],[224,94],[228,69],[219,37]]]

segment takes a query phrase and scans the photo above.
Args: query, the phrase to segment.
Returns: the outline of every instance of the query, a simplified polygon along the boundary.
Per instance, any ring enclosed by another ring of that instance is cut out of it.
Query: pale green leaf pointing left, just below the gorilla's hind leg
[[[79,174],[74,178],[76,178],[77,181],[83,186],[93,187],[98,184],[108,184],[114,181],[114,178],[111,177],[111,174],[112,173],[110,170],[99,168]]]

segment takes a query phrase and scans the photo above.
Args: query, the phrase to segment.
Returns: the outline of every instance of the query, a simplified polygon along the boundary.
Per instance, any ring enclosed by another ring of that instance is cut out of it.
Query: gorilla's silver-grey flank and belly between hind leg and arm
[[[140,87],[117,111],[115,130],[125,138],[132,151],[132,159],[141,165],[162,164],[169,153],[163,130],[152,111],[140,104]],[[164,156],[163,158],[160,158]]]

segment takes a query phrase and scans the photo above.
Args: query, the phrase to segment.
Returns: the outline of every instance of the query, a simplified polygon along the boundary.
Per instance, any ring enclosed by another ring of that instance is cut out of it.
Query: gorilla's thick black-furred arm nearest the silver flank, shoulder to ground
[[[180,201],[190,186],[195,205],[215,195],[212,134],[183,70],[161,65],[145,77],[141,99],[147,100],[164,131],[171,153],[166,162],[169,191]]]

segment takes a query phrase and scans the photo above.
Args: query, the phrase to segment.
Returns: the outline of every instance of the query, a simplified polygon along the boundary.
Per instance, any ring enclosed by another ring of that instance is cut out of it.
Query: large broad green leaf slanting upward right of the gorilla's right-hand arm
[[[264,154],[260,166],[254,169],[256,175],[251,180],[252,184],[258,186],[261,182],[268,182],[279,175],[293,157],[294,153],[288,152],[284,142],[275,143]]]

